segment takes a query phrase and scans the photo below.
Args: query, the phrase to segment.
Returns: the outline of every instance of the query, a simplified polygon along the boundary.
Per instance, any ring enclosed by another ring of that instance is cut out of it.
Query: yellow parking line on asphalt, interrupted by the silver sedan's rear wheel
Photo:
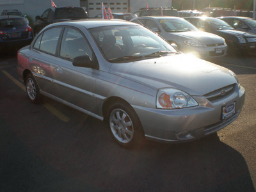
[[[9,79],[11,79],[13,81],[13,83],[17,84],[17,86],[19,86],[19,88],[21,88],[24,92],[26,92],[26,88],[24,86],[24,84],[20,83],[19,81],[17,81],[17,79],[15,79],[13,76],[11,76],[8,72],[6,72],[5,70],[2,70],[3,74],[6,75]],[[58,118],[60,118],[61,121],[63,122],[68,122],[70,120],[70,118],[68,118],[67,116],[65,116],[63,113],[61,113],[58,109],[52,107],[50,104],[42,104],[42,106],[44,106],[45,109],[47,109],[48,111],[50,111],[53,115],[57,116]]]

